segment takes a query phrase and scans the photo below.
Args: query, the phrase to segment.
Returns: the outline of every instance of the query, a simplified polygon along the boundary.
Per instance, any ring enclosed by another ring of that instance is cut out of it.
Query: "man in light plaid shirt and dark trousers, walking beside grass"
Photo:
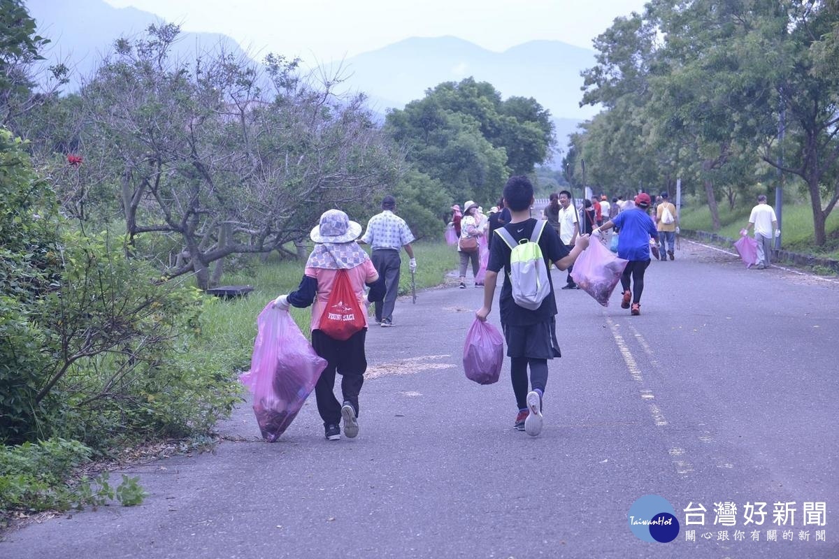
[[[414,235],[399,215],[393,213],[396,209],[396,199],[387,195],[382,199],[382,213],[373,215],[367,222],[367,230],[357,242],[360,245],[369,244],[373,247],[373,266],[378,275],[384,278],[387,292],[384,301],[375,303],[376,322],[383,328],[393,326],[393,307],[396,306],[396,296],[399,293],[399,267],[402,260],[399,251],[404,247],[410,260],[410,270],[417,269],[414,249],[411,241]]]

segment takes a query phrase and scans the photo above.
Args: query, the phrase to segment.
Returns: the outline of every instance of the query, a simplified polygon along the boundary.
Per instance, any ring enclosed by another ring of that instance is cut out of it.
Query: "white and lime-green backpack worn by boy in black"
[[[519,307],[536,310],[550,293],[548,267],[542,249],[539,248],[539,237],[548,222],[538,220],[533,228],[530,239],[522,239],[518,243],[508,230],[499,227],[495,230],[504,243],[510,247],[510,283],[513,287],[513,301]]]

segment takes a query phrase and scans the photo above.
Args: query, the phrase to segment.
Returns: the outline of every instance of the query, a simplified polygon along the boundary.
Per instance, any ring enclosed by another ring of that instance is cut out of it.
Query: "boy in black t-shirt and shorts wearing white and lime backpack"
[[[554,262],[558,269],[566,270],[586,249],[589,237],[577,236],[569,252],[553,227],[546,227],[543,220],[530,218],[533,184],[527,177],[510,177],[504,185],[503,196],[511,220],[495,230],[498,238],[492,242],[487,263],[483,306],[475,316],[487,320],[492,311],[498,272],[503,268],[504,283],[498,308],[518,406],[513,427],[535,437],[542,431],[542,396],[548,381],[548,360],[560,357],[556,341],[556,302],[548,264]]]

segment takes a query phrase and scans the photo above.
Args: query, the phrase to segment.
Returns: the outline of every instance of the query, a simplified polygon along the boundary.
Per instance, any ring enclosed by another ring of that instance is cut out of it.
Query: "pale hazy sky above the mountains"
[[[227,34],[253,54],[324,63],[408,37],[454,35],[503,51],[535,39],[591,48],[591,39],[644,0],[106,0],[185,31]]]

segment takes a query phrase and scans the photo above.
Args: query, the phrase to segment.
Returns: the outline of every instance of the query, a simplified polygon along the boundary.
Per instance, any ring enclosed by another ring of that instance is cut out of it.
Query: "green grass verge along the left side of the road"
[[[418,242],[412,247],[417,259],[417,289],[440,285],[445,282],[446,273],[457,267],[456,251],[445,242]],[[368,246],[365,248],[369,250]],[[411,274],[404,251],[401,256],[399,295],[406,295],[411,292]],[[274,256],[265,262],[253,258],[240,264],[237,271],[224,274],[222,285],[250,285],[253,292],[229,300],[210,298],[201,315],[201,338],[206,340],[208,354],[224,352],[232,356],[237,370],[248,370],[259,313],[278,295],[292,292],[300,285],[304,264],[304,261],[279,260]],[[308,337],[311,309],[292,307],[290,312]]]

